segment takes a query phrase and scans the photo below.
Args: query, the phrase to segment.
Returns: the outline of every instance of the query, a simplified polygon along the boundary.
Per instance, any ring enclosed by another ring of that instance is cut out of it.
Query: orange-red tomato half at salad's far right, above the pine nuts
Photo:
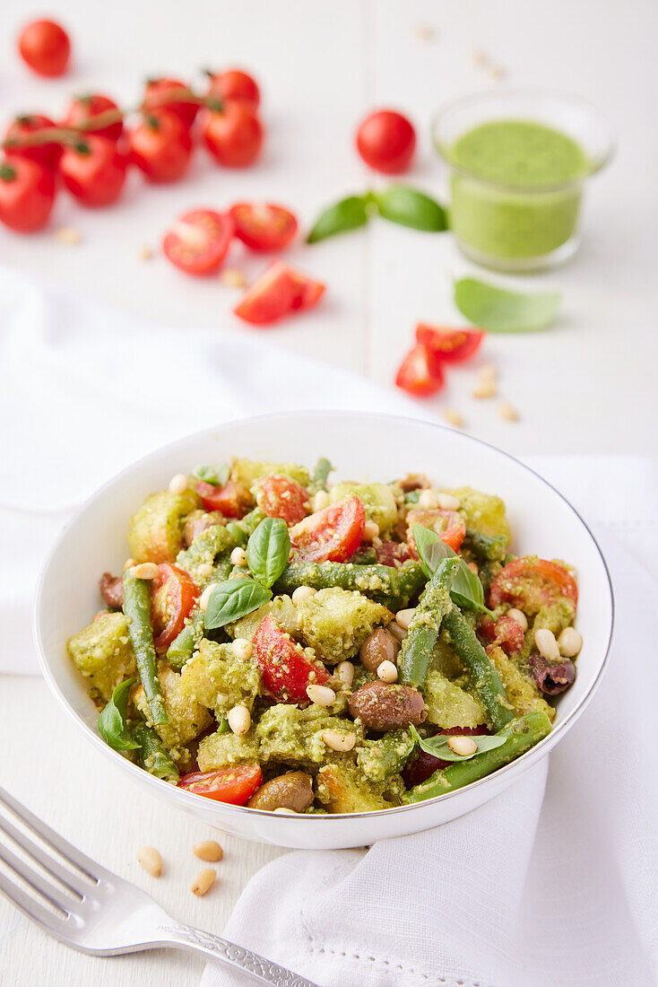
[[[511,603],[529,617],[560,600],[571,603],[575,612],[578,587],[573,576],[563,566],[535,556],[508,563],[493,580],[489,594],[492,609]]]

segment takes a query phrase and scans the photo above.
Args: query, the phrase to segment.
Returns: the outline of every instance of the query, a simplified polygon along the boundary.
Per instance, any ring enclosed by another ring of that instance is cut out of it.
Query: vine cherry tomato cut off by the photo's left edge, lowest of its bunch
[[[55,200],[52,172],[29,158],[0,163],[0,222],[18,233],[42,229]]]

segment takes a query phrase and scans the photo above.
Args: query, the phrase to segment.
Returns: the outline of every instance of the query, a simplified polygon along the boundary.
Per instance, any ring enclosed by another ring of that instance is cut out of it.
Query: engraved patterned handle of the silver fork
[[[271,984],[273,987],[318,987],[311,980],[306,980],[298,973],[287,970],[278,963],[259,956],[257,952],[244,949],[235,943],[220,936],[213,936],[209,932],[202,932],[192,926],[181,924],[172,926],[161,926],[158,930],[166,934],[167,942],[165,946],[180,946],[183,949],[194,949],[197,952],[204,952],[212,959],[217,959],[225,966],[231,966],[235,970],[248,974],[256,983]]]

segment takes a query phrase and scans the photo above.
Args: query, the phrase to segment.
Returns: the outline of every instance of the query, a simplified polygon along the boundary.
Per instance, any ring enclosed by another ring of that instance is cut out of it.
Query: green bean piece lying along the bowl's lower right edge
[[[525,717],[510,721],[503,732],[508,733],[509,737],[500,747],[475,754],[468,761],[454,761],[448,768],[435,771],[426,782],[409,789],[402,796],[402,801],[418,802],[425,798],[443,796],[446,792],[463,789],[465,785],[471,785],[472,782],[490,775],[492,771],[514,761],[548,736],[550,721],[546,713],[534,710]]]

